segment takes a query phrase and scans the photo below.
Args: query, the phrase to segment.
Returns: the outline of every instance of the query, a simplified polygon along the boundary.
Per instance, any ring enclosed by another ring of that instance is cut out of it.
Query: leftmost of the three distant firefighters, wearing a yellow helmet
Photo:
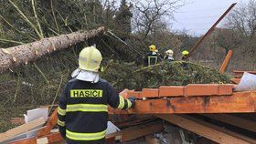
[[[151,45],[148,47],[150,52],[146,53],[144,56],[144,67],[155,65],[161,61],[161,57],[159,57],[159,55],[156,53],[156,46]]]

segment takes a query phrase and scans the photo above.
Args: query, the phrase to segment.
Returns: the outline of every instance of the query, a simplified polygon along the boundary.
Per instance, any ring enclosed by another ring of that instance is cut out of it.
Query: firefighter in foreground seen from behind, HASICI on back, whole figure
[[[79,68],[59,98],[59,132],[68,144],[105,143],[108,105],[128,109],[135,104],[135,98],[123,98],[99,77],[101,60],[101,52],[95,46],[83,48]]]

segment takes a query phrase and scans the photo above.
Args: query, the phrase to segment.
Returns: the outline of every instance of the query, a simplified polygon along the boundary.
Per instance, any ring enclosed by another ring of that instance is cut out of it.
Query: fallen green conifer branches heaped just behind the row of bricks
[[[134,63],[114,63],[102,75],[114,87],[122,90],[144,87],[186,86],[187,84],[228,83],[229,77],[217,70],[193,63],[163,62],[151,67],[137,67]]]

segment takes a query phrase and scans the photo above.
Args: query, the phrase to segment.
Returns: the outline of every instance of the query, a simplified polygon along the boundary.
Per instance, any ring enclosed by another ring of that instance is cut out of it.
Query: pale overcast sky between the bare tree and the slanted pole
[[[187,29],[191,35],[204,35],[232,3],[249,0],[185,0],[177,10],[173,29]],[[237,6],[237,5],[236,5]],[[235,7],[236,7],[235,6]],[[221,25],[221,23],[220,23]]]

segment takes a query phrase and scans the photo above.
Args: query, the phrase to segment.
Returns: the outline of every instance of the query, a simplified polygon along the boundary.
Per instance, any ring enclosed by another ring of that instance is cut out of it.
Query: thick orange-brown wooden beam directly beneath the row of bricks
[[[256,91],[235,92],[230,96],[178,97],[137,100],[134,108],[110,114],[244,113],[256,112]]]

